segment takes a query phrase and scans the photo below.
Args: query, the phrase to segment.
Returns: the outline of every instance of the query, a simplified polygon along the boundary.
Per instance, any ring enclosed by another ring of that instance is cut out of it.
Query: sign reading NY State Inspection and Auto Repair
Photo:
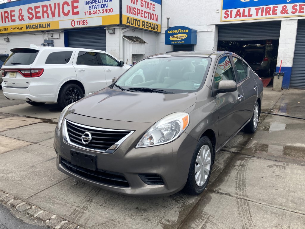
[[[122,24],[161,32],[161,0],[122,0]]]

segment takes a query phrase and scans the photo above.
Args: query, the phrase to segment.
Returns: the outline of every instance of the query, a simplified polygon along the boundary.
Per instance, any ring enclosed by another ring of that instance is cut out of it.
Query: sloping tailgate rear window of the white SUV
[[[39,50],[36,49],[14,49],[3,65],[30,65],[33,64]]]

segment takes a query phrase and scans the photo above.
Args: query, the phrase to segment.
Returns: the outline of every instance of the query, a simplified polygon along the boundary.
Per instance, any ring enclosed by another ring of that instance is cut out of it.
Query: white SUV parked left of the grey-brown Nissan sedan
[[[30,45],[11,52],[1,68],[3,94],[36,106],[58,102],[66,107],[130,67],[100,50]]]

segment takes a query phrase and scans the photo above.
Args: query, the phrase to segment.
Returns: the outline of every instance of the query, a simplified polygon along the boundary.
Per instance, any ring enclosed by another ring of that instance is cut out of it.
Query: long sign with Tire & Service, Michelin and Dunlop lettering
[[[0,5],[0,34],[120,24],[118,0],[20,0]]]

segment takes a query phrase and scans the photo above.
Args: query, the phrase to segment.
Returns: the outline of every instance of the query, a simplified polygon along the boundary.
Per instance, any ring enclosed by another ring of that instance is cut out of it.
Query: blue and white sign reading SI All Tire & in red
[[[223,0],[221,21],[305,16],[304,0]]]

